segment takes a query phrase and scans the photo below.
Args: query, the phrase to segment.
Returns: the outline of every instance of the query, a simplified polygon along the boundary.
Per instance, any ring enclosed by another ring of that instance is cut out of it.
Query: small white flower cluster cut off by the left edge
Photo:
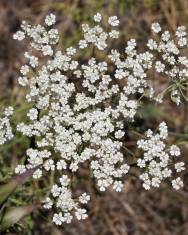
[[[13,138],[10,116],[13,114],[13,108],[7,107],[2,117],[0,117],[0,145]]]

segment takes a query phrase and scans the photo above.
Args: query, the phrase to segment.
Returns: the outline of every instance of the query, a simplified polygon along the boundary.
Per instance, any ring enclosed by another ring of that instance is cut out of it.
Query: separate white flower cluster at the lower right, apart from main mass
[[[174,164],[174,161],[180,156],[180,149],[176,145],[166,147],[167,137],[168,129],[166,123],[162,122],[159,125],[159,133],[154,134],[149,129],[146,132],[146,139],[137,142],[138,148],[144,151],[144,156],[138,159],[137,165],[144,171],[139,178],[143,181],[143,187],[146,190],[151,187],[159,187],[165,179],[185,170],[183,162]],[[180,177],[173,179],[172,186],[178,190],[183,187],[183,181]]]

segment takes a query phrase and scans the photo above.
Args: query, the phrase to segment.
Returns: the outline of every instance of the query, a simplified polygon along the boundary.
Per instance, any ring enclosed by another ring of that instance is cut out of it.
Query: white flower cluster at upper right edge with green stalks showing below
[[[187,100],[187,97],[183,94],[183,87],[187,86],[188,83],[186,27],[179,26],[175,35],[171,35],[167,30],[162,32],[159,23],[153,23],[151,29],[157,34],[155,40],[149,39],[147,43],[154,55],[154,69],[168,78],[167,81],[170,81],[168,91],[171,92],[172,101],[179,105],[181,96]],[[157,101],[162,102],[163,95],[164,92],[157,97]]]

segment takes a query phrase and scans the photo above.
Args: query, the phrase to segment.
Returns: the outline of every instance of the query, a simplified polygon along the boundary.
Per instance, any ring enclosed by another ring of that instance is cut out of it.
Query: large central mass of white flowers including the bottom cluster
[[[31,50],[25,53],[28,63],[21,67],[18,81],[28,88],[26,99],[34,106],[27,113],[28,122],[19,123],[17,130],[34,137],[36,145],[26,151],[27,163],[18,165],[15,172],[37,167],[36,179],[45,172],[59,176],[61,185],[53,185],[44,207],[56,208],[53,221],[61,225],[70,223],[74,216],[78,220],[87,217],[80,205],[89,201],[89,195],[83,193],[78,198],[71,190],[72,176],[83,164],[89,165],[101,191],[108,187],[122,190],[130,169],[123,148],[125,126],[134,121],[140,98],[150,89],[147,71],[153,55],[138,53],[134,39],[127,42],[123,53],[115,49],[108,52],[110,41],[118,38],[113,27],[119,20],[109,17],[106,29],[99,13],[93,27],[82,26],[83,39],[78,45],[59,50],[58,31],[51,28],[55,19],[53,14],[47,16],[45,27],[23,22],[22,30],[14,35],[17,40],[31,39]],[[89,50],[89,46],[93,54],[80,62],[79,51]],[[103,59],[96,58],[94,48],[103,51]],[[36,50],[44,61],[39,61]],[[179,183],[176,181],[173,185]]]

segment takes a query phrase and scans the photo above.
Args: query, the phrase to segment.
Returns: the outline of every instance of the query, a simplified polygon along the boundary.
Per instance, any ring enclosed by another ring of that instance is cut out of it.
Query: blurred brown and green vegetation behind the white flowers
[[[120,18],[120,39],[115,45],[125,47],[130,38],[136,38],[139,49],[150,36],[150,25],[158,21],[164,28],[174,31],[177,26],[188,26],[187,0],[0,0],[0,110],[8,105],[17,107],[14,125],[23,120],[28,104],[24,91],[18,87],[19,67],[24,63],[23,52],[27,43],[18,43],[12,35],[22,20],[42,22],[48,12],[57,15],[62,47],[74,45],[81,36],[81,23],[90,22],[96,12],[104,17]],[[82,55],[87,57],[87,55]],[[165,83],[154,78],[156,88]],[[172,132],[171,141],[182,145],[183,158],[188,162],[188,113],[187,106],[175,108],[166,101],[160,108],[145,104],[135,123],[152,127],[166,120]],[[130,147],[135,144],[127,143]],[[0,182],[5,182],[18,162],[25,159],[27,138],[0,147]],[[158,190],[145,192],[139,182],[128,181],[122,193],[113,191],[95,196],[90,205],[89,219],[57,228],[51,224],[50,214],[43,211],[27,216],[4,234],[46,235],[187,235],[188,234],[188,173],[184,174],[185,188],[172,192],[164,185]],[[37,200],[40,182],[26,183],[7,201],[7,205],[20,206]]]

